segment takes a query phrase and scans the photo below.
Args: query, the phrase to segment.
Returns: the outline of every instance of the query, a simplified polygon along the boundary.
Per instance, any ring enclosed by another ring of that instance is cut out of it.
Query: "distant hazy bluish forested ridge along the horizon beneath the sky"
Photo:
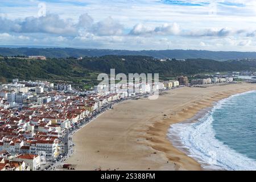
[[[213,60],[234,60],[234,59],[256,59],[256,52],[224,52],[224,51],[196,51],[196,50],[162,50],[162,51],[127,51],[111,49],[75,49],[75,48],[1,48],[0,55],[42,55],[46,57],[80,57],[80,56],[104,56],[104,55],[133,55],[151,56],[159,59],[213,59]]]

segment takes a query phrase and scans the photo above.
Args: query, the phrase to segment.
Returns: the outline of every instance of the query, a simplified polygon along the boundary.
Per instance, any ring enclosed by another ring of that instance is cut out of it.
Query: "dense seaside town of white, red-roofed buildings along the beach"
[[[98,114],[113,109],[117,102],[139,99],[161,90],[233,82],[233,77],[212,77],[139,84],[138,92],[127,84],[94,86],[77,91],[69,84],[48,81],[20,81],[0,85],[0,171],[54,170],[72,168],[65,160],[73,153],[72,134]],[[153,88],[153,89],[152,89]],[[114,90],[114,92],[111,90]]]

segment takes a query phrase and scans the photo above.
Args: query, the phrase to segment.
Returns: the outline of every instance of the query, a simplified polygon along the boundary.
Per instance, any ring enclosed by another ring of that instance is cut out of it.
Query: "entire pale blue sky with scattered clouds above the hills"
[[[256,51],[255,0],[1,0],[0,45]]]

